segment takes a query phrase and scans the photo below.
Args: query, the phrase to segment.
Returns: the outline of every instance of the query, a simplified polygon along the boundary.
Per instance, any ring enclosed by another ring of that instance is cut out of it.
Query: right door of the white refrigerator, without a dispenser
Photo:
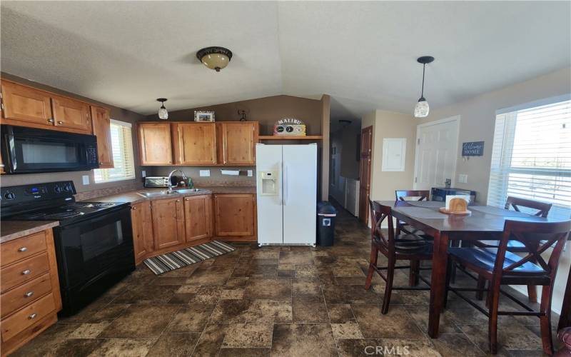
[[[315,244],[316,210],[317,145],[284,145],[284,244]]]

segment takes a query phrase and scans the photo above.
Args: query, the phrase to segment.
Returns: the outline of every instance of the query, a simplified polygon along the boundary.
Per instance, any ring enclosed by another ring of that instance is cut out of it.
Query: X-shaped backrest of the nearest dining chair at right
[[[541,274],[555,278],[559,258],[570,231],[571,221],[505,221],[504,233],[500,241],[500,246],[497,249],[495,273],[501,271],[502,275],[514,275],[517,274],[517,272],[514,271],[515,268],[527,262],[532,262],[542,268],[543,272],[540,272]],[[507,242],[510,240],[523,243],[525,251],[522,251],[522,253],[525,253],[525,256],[521,256],[520,259],[512,261],[508,266],[504,266]],[[545,261],[541,254],[550,247],[553,247],[550,257]]]

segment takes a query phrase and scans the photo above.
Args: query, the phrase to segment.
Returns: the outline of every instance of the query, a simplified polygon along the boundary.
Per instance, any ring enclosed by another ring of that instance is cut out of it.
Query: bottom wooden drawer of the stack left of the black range
[[[14,315],[9,318],[2,320],[2,341],[7,341],[16,336],[21,331],[29,328],[29,326],[34,325],[36,321],[40,321],[49,313],[54,312],[55,309],[56,303],[54,303],[54,295],[49,293],[35,303],[14,313]]]

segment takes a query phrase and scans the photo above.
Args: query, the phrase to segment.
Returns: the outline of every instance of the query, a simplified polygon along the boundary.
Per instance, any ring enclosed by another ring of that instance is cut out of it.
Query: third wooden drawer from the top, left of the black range
[[[2,306],[1,316],[4,317],[18,310],[24,305],[38,300],[51,291],[51,276],[49,273],[35,278],[24,285],[13,288],[0,296]]]

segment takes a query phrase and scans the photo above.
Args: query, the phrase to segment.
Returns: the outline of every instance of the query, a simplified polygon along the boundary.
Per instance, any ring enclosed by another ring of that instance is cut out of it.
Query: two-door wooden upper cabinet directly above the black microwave
[[[91,134],[89,104],[11,81],[1,82],[4,124]]]

